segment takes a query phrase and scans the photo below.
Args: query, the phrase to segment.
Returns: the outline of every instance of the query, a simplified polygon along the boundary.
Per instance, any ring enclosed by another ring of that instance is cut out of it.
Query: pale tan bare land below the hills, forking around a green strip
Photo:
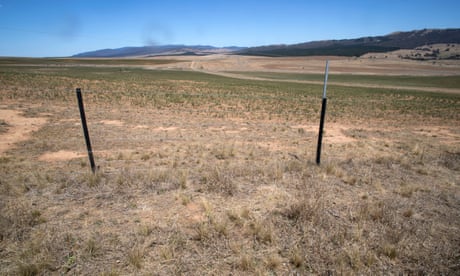
[[[162,57],[164,58],[164,57]],[[203,57],[168,57],[182,62],[168,65],[149,66],[152,69],[180,69],[194,70],[231,78],[265,80],[278,82],[298,82],[309,84],[322,84],[318,81],[302,80],[273,80],[239,74],[238,72],[280,72],[280,73],[305,73],[323,74],[326,60],[330,61],[331,74],[353,75],[407,75],[407,76],[449,76],[460,75],[460,61],[413,61],[390,59],[369,59],[350,57],[252,57],[232,55],[212,55]],[[390,85],[373,85],[364,83],[330,82],[330,85],[388,88],[397,90],[419,90],[428,92],[443,92],[460,94],[460,89],[433,88],[433,87],[407,87]]]

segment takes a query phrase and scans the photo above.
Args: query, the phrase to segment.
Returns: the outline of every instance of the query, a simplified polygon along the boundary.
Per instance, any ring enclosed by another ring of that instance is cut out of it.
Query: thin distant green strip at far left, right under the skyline
[[[160,65],[179,62],[172,59],[134,59],[134,58],[15,58],[0,57],[1,65]]]

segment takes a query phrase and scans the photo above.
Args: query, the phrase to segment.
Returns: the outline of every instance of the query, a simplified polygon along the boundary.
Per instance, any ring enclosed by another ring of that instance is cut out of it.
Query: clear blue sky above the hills
[[[260,46],[460,28],[460,1],[0,0],[0,56],[124,46]]]

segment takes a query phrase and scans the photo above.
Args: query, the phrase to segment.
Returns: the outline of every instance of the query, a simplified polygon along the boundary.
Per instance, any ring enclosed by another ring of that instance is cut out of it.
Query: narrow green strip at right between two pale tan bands
[[[257,78],[294,81],[323,81],[323,74],[298,74],[275,72],[231,72]],[[460,75],[457,76],[383,76],[329,74],[330,82],[373,84],[407,87],[438,87],[460,89]]]

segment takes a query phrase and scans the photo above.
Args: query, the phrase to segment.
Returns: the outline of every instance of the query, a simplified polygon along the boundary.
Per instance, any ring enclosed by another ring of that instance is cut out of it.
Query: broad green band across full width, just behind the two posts
[[[322,85],[228,78],[193,71],[107,67],[0,66],[0,98],[92,101],[173,110],[209,110],[297,118],[319,115]],[[329,119],[460,120],[460,95],[385,88],[328,87]]]

